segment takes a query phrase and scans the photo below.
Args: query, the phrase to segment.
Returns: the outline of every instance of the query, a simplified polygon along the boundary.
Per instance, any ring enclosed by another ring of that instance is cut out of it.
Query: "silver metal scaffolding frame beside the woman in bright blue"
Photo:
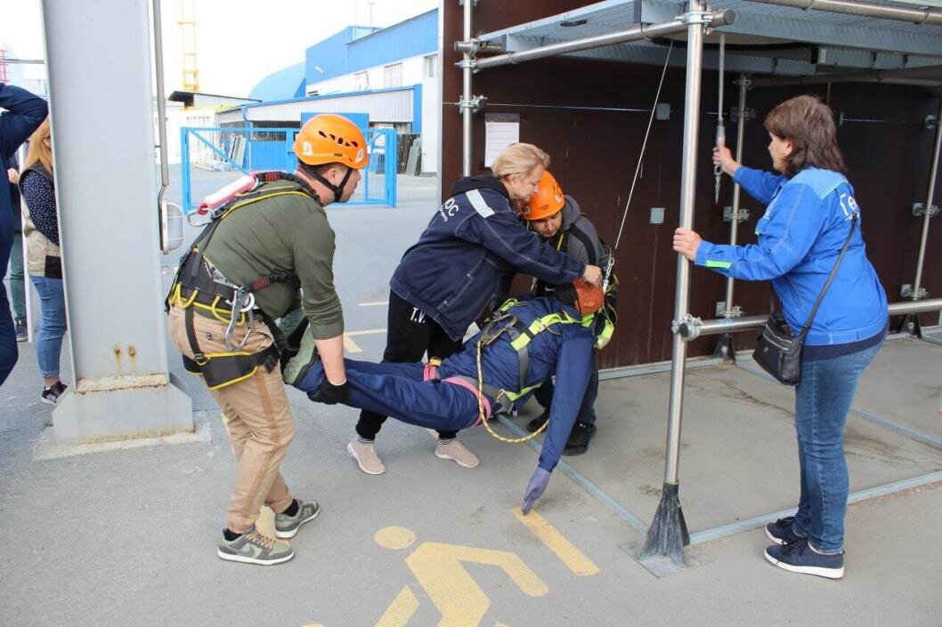
[[[801,8],[804,10],[820,10],[845,15],[855,15],[882,20],[902,21],[912,24],[942,24],[942,11],[931,7],[924,8],[904,8],[885,5],[874,5],[857,0],[752,0],[759,4],[777,5],[783,7]],[[642,2],[642,0],[638,0]],[[681,185],[680,185],[680,220],[679,226],[691,228],[693,224],[693,189],[696,182],[696,153],[697,139],[699,135],[699,115],[700,115],[700,93],[701,93],[701,73],[704,67],[704,34],[707,28],[720,27],[733,24],[736,21],[736,15],[733,11],[713,12],[706,8],[701,0],[688,0],[686,11],[659,24],[633,24],[632,26],[614,31],[604,35],[595,35],[577,40],[564,42],[555,42],[546,45],[535,46],[524,51],[505,52],[497,56],[489,56],[478,59],[477,53],[486,51],[489,46],[485,42],[482,45],[481,40],[471,38],[471,2],[464,0],[464,22],[463,22],[463,41],[455,43],[455,49],[463,52],[463,60],[459,63],[463,72],[463,97],[459,104],[463,113],[463,174],[470,174],[471,164],[471,115],[475,110],[474,101],[476,98],[471,96],[472,73],[493,68],[501,65],[522,63],[531,59],[544,58],[548,56],[560,56],[593,50],[603,46],[625,43],[628,41],[650,39],[652,37],[664,37],[667,35],[687,33],[687,63],[686,63],[686,87],[685,87],[685,110],[684,110],[684,138],[683,138],[683,157],[681,163]],[[568,15],[567,15],[568,17]],[[550,18],[552,19],[552,18]],[[940,49],[942,56],[942,49]],[[723,62],[722,59],[721,62]],[[738,157],[741,158],[742,140],[741,132],[744,122],[744,103],[745,103],[745,77],[740,78],[739,89],[739,129],[740,134],[737,144]],[[721,112],[722,113],[722,112]],[[918,286],[921,280],[922,265],[925,257],[926,239],[928,236],[928,223],[931,217],[929,210],[932,208],[936,169],[938,167],[940,146],[942,146],[942,102],[940,102],[940,119],[937,123],[935,153],[933,160],[933,171],[930,175],[930,186],[928,190],[928,201],[926,202],[926,216],[924,218],[923,235],[920,242],[919,261],[917,270],[917,279],[914,282],[916,294],[913,302],[895,303],[890,306],[890,314],[914,315],[918,312],[942,311],[942,299],[927,300],[917,302],[919,299]],[[736,200],[738,200],[739,189],[737,185]],[[733,243],[736,241],[736,212],[734,209],[733,225],[730,233],[730,239]],[[698,335],[710,333],[730,333],[735,330],[757,329],[766,320],[767,316],[753,316],[749,318],[737,318],[727,315],[720,320],[704,323],[690,315],[690,262],[682,255],[677,255],[677,279],[674,300],[674,322],[672,330],[674,331],[674,341],[672,347],[671,359],[671,383],[670,400],[668,408],[667,424],[667,442],[664,468],[664,484],[661,493],[661,501],[658,505],[658,511],[655,514],[651,525],[644,527],[638,524],[638,519],[621,507],[613,507],[628,523],[637,528],[646,536],[643,545],[635,552],[635,556],[648,568],[658,575],[668,574],[672,571],[679,571],[689,566],[695,565],[696,559],[685,555],[684,547],[690,544],[691,536],[688,533],[686,522],[678,499],[679,489],[679,454],[680,454],[680,431],[683,415],[683,396],[684,396],[684,377],[687,367],[687,343]],[[727,283],[726,289],[726,313],[732,308],[732,285]],[[735,355],[735,353],[734,353]],[[744,370],[756,373],[755,369],[740,365]],[[758,374],[758,373],[756,373]],[[885,421],[884,419],[883,422]],[[512,430],[517,430],[512,423],[505,422],[505,425]],[[928,438],[928,436],[925,436]],[[923,439],[925,441],[925,439]],[[934,442],[938,446],[942,442]],[[566,468],[565,464],[560,464]],[[589,483],[585,477],[578,475],[573,469],[569,469],[569,474],[577,483],[587,486]],[[577,476],[578,475],[578,476]],[[889,493],[891,491],[904,490],[912,488],[915,485],[922,485],[942,479],[942,473],[926,474],[914,479],[897,482],[889,486],[882,486],[877,489],[863,490],[862,493],[852,495],[853,499],[871,498],[872,496]],[[613,502],[604,492],[593,488],[593,493],[604,503]],[[601,493],[600,493],[601,492]],[[615,504],[617,505],[617,504]],[[620,507],[620,506],[619,506]],[[779,515],[785,515],[788,512],[774,512],[768,516],[758,517],[755,520],[743,521],[726,525],[726,528],[717,528],[694,534],[692,539],[704,541],[705,539],[714,539],[728,533],[736,533],[739,530],[752,528],[758,524],[775,520]]]

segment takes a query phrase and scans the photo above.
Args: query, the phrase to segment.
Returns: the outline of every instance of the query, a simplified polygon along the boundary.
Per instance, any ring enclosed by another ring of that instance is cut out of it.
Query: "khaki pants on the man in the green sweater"
[[[187,341],[184,310],[171,307],[168,325],[173,344],[193,359],[193,351]],[[193,329],[203,352],[226,350],[225,323],[194,313]],[[235,330],[236,343],[241,342],[244,336],[243,327]],[[254,353],[272,342],[271,331],[258,320],[252,326],[244,350]],[[294,437],[294,420],[284,393],[282,374],[277,367],[267,373],[260,366],[251,378],[209,392],[222,410],[229,442],[232,442],[233,453],[238,460],[235,486],[229,496],[227,525],[235,533],[242,533],[258,519],[262,504],[276,513],[291,505],[291,492],[284,484],[279,468]]]

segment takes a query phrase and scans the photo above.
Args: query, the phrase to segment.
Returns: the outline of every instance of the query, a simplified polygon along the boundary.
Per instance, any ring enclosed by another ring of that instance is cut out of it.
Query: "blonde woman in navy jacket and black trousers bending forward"
[[[389,314],[383,362],[444,359],[461,350],[462,338],[483,311],[506,266],[548,283],[582,277],[600,283],[602,271],[561,254],[528,231],[516,216],[516,202],[536,191],[549,155],[519,143],[498,154],[492,175],[464,177],[451,187],[451,198],[431,217],[429,226],[401,261],[389,281]],[[349,454],[366,474],[386,471],[374,441],[385,414],[364,410]],[[439,431],[435,457],[475,468],[479,459],[456,440],[452,429]]]

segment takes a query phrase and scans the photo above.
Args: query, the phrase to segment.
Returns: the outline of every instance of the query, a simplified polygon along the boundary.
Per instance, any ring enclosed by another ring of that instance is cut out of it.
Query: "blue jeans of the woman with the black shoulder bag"
[[[844,423],[857,382],[883,342],[834,359],[802,362],[795,389],[795,430],[802,492],[793,529],[825,554],[844,547],[848,475]]]

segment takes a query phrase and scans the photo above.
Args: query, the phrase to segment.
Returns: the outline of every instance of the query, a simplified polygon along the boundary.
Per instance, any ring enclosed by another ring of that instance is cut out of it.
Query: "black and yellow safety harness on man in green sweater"
[[[250,378],[259,366],[264,366],[267,372],[271,372],[279,361],[286,362],[293,351],[291,343],[285,339],[274,319],[255,307],[254,293],[275,282],[286,282],[297,289],[300,286],[298,275],[293,271],[277,272],[258,277],[244,285],[236,285],[226,279],[204,254],[222,220],[238,209],[285,195],[303,196],[319,202],[317,192],[291,174],[260,172],[256,177],[258,183],[252,190],[237,194],[231,201],[224,202],[208,212],[209,222],[180,259],[176,278],[164,302],[167,312],[170,312],[172,305],[185,310],[187,341],[194,359],[184,355],[184,367],[191,374],[203,375],[210,390],[219,390]],[[197,311],[227,324],[226,351],[207,353],[200,349],[193,328],[193,314]],[[259,352],[250,353],[242,348],[249,338],[256,315],[262,318],[271,331],[274,343]],[[240,343],[235,344],[233,333],[237,327],[245,327],[246,334]],[[302,323],[300,330],[295,330],[292,337],[300,337],[304,327],[306,324]]]

